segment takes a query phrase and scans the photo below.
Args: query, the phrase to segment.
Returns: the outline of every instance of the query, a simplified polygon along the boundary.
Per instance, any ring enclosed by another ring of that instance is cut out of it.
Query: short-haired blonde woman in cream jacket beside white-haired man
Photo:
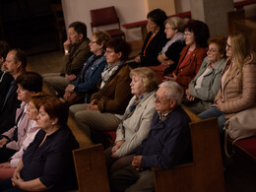
[[[131,164],[134,153],[147,138],[155,113],[154,96],[158,89],[158,79],[154,71],[142,67],[130,73],[132,82],[130,100],[116,131],[114,147],[105,150],[109,174]]]

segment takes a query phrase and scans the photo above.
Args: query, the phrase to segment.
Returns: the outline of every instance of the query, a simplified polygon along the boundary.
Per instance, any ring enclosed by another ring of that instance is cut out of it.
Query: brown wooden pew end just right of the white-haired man
[[[156,192],[224,191],[224,166],[217,118],[201,120],[186,107],[191,118],[193,161],[163,170],[153,168]]]

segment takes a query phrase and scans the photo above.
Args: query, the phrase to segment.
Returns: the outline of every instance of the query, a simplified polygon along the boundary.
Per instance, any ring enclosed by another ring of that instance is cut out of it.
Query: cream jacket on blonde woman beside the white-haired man
[[[123,145],[116,151],[116,156],[119,158],[133,154],[141,145],[142,141],[148,137],[151,130],[151,122],[156,112],[154,103],[155,92],[151,92],[138,103],[132,116],[125,119],[123,125],[125,132],[122,132],[121,124],[116,130],[116,140],[125,140]],[[136,96],[130,100],[126,110],[134,102]]]

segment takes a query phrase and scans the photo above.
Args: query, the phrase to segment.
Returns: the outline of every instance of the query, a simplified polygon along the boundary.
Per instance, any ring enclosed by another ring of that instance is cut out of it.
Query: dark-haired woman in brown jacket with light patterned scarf
[[[109,40],[104,54],[107,65],[97,84],[99,91],[92,96],[90,104],[70,106],[71,115],[89,137],[92,131],[115,131],[121,121],[132,96],[129,94],[130,67],[125,64],[129,52],[130,46],[125,40]]]

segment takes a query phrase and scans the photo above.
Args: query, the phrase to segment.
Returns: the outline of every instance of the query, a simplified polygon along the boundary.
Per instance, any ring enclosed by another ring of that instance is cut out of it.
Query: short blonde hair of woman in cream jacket
[[[130,72],[130,78],[138,76],[142,79],[142,84],[146,92],[153,92],[158,89],[159,79],[155,71],[148,67],[135,68]]]

